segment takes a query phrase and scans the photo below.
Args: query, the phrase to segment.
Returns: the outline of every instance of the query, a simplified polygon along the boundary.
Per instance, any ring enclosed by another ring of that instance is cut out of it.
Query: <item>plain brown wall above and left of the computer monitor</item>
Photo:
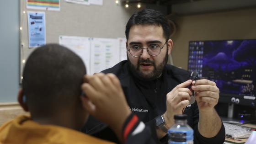
[[[172,59],[187,69],[188,42],[193,40],[256,39],[256,8],[177,16]]]

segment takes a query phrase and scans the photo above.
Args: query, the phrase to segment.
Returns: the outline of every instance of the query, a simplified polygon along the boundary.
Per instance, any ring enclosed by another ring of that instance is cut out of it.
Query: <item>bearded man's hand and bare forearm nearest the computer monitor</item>
[[[210,80],[192,82],[195,99],[199,110],[198,131],[206,138],[212,138],[221,128],[221,120],[214,106],[219,101],[219,88]]]

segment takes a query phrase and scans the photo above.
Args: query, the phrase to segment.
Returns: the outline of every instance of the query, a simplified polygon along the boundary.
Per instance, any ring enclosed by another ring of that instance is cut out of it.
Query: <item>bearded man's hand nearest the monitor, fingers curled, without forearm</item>
[[[215,82],[204,79],[193,81],[192,84],[199,111],[212,111],[219,101],[219,88]]]

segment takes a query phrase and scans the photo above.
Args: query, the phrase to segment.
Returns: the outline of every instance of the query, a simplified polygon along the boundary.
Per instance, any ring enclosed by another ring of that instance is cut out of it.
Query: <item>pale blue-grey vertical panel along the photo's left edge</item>
[[[0,103],[19,89],[19,0],[0,0]]]

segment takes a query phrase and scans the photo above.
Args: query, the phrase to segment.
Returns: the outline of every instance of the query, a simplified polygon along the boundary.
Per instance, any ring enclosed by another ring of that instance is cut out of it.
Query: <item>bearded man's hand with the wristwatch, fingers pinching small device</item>
[[[165,127],[171,128],[171,125],[174,124],[174,115],[182,114],[183,108],[189,104],[192,91],[186,87],[191,83],[192,80],[187,80],[177,85],[166,95],[166,112],[164,113]],[[166,135],[166,133],[158,129],[157,135],[158,138],[161,139]]]

